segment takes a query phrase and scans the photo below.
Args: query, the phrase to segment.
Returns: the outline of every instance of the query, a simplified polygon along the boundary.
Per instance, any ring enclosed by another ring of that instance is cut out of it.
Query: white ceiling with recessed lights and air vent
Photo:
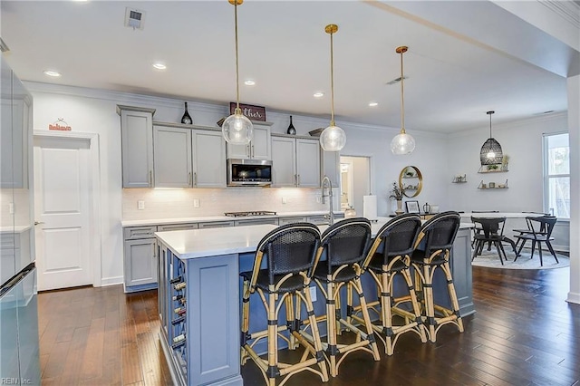
[[[580,5],[565,3],[560,25],[580,36]],[[4,55],[24,81],[224,106],[236,101],[234,7],[226,0],[3,0],[0,6],[1,37],[10,49]],[[144,12],[142,30],[123,25],[127,6]],[[328,118],[324,26],[331,23],[339,26],[334,111],[342,121],[400,127],[401,84],[387,84],[401,75],[400,45],[409,46],[403,58],[408,131],[477,128],[487,125],[489,110],[496,123],[565,111],[565,77],[580,72],[580,43],[556,39],[489,1],[247,0],[238,7],[240,101],[265,106],[266,113]],[[155,62],[167,69],[155,70]],[[44,70],[63,76],[49,78]],[[256,85],[244,85],[247,79]],[[315,99],[314,92],[325,95]]]

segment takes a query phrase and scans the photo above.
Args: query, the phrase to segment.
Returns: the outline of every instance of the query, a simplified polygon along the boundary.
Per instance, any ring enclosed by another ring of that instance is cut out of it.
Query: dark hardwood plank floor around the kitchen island
[[[569,268],[473,268],[477,314],[437,343],[405,334],[387,357],[355,352],[338,377],[303,372],[288,385],[579,385],[580,305],[567,304]],[[171,384],[157,330],[157,294],[122,286],[39,295],[43,385]],[[406,336],[407,335],[407,336]],[[382,351],[382,346],[380,346]],[[252,363],[245,384],[264,381]]]

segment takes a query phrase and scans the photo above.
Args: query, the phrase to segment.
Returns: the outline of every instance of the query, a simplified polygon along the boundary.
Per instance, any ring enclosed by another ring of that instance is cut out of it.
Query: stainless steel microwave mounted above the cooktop
[[[228,187],[264,187],[271,183],[271,160],[227,159]]]

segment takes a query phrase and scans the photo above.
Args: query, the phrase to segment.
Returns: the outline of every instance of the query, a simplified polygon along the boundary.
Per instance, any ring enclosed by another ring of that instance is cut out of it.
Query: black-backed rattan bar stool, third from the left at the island
[[[427,342],[410,268],[411,254],[420,227],[419,215],[404,214],[394,217],[377,232],[362,264],[362,269],[372,275],[378,288],[379,300],[368,305],[381,317],[382,324],[373,324],[373,328],[379,333],[379,339],[384,343],[387,355],[392,355],[395,343],[402,333],[417,333],[422,343]],[[408,294],[395,298],[393,283],[397,275],[401,275],[404,279]],[[381,309],[380,312],[377,310],[378,307]],[[359,310],[360,307],[355,307],[355,314],[351,317],[362,323]],[[393,325],[394,315],[400,316],[397,320],[402,319],[402,324]]]

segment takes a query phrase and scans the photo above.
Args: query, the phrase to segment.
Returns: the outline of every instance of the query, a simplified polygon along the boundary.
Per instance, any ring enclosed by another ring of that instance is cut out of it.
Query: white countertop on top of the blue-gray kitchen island
[[[372,236],[389,221],[391,217],[379,217],[372,223]],[[180,259],[221,256],[255,252],[262,237],[275,229],[275,225],[256,225],[243,227],[187,229],[156,232],[158,240]],[[320,226],[321,232],[328,226]],[[473,227],[462,223],[460,228]]]

